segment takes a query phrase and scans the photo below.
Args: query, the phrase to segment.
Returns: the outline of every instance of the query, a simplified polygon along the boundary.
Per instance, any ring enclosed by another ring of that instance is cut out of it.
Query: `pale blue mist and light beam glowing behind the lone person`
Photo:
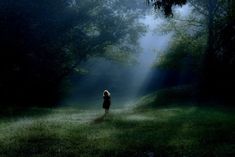
[[[119,63],[102,57],[89,58],[81,64],[87,74],[82,77],[71,76],[72,88],[63,105],[100,107],[103,91],[107,89],[111,92],[113,107],[119,108],[133,104],[143,94],[158,53],[170,46],[172,32],[156,32],[156,26],[164,19],[156,18],[154,14],[141,17],[139,21],[145,25],[146,33],[138,39],[140,49],[133,54],[135,63]]]

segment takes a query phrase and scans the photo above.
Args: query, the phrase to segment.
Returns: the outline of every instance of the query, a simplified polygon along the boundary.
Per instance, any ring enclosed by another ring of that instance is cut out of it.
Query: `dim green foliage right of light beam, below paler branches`
[[[158,57],[156,66],[164,69],[183,70],[191,68],[197,70],[200,67],[200,61],[205,51],[205,37],[192,38],[184,36],[174,40],[174,43]]]

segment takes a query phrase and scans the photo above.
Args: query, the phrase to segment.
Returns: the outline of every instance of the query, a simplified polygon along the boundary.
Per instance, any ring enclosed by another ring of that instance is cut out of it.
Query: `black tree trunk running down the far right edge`
[[[230,99],[234,87],[234,0],[227,0],[228,17],[215,27],[217,0],[208,0],[208,47],[204,60],[202,89],[213,99]],[[217,23],[218,24],[218,23]]]

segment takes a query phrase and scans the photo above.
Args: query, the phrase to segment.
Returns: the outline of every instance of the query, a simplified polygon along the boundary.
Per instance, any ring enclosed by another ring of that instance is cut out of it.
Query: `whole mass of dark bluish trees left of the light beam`
[[[141,4],[141,5],[140,5]],[[144,31],[136,1],[1,0],[1,106],[55,105],[66,77],[89,56],[122,53]]]

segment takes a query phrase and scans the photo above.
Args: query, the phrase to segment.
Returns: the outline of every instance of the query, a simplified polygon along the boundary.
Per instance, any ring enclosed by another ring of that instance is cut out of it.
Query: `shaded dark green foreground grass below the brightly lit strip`
[[[18,130],[9,144],[7,140],[5,144],[0,143],[0,156],[222,157],[235,154],[234,115],[202,107],[135,114],[150,114],[155,119],[128,119],[115,113],[91,119],[92,124],[100,125],[38,121]]]

